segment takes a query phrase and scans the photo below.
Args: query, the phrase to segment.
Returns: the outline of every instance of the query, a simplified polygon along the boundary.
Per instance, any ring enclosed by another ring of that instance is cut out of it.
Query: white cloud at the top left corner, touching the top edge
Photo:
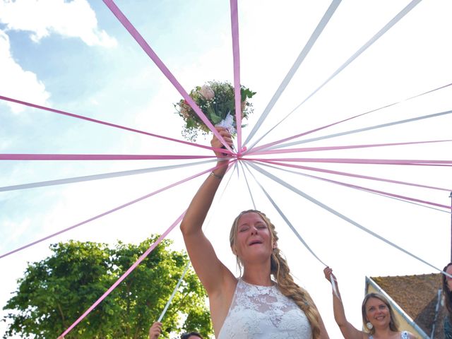
[[[8,30],[30,31],[35,42],[54,32],[64,37],[80,37],[88,46],[117,45],[117,40],[97,28],[95,12],[85,0],[3,0],[0,22],[5,23]]]

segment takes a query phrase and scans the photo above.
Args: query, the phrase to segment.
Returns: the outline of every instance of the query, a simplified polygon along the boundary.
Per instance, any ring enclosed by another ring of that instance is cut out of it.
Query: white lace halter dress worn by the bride
[[[237,282],[218,339],[311,339],[304,312],[278,287]]]

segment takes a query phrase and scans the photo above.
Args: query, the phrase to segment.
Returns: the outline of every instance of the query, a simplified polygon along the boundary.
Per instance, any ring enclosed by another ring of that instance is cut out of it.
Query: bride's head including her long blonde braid
[[[278,234],[270,219],[258,210],[244,210],[232,223],[230,245],[240,270],[248,261],[265,261],[270,257],[270,274],[278,283],[278,289],[304,311],[311,325],[312,338],[320,338],[319,311],[309,293],[294,282],[278,248]]]

